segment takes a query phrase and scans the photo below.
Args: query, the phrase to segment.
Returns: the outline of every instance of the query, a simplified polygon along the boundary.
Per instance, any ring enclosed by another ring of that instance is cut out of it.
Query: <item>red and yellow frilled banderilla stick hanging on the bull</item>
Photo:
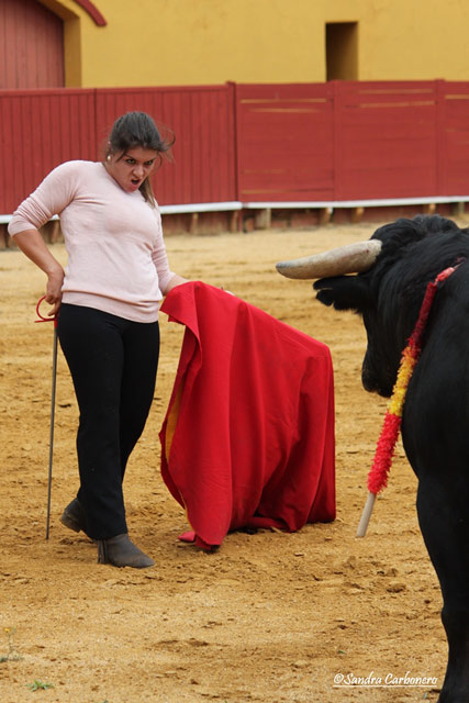
[[[422,337],[438,283],[446,280],[448,276],[456,270],[457,266],[446,268],[444,271],[438,274],[433,282],[431,281],[428,283],[414,331],[409,339],[407,346],[402,353],[398,378],[384,415],[384,422],[378,439],[375,459],[368,473],[368,498],[358,524],[357,537],[365,537],[375,506],[376,496],[388,486],[388,473],[391,468],[392,457],[394,455],[395,444],[401,428],[405,393],[407,391],[409,381],[411,380],[413,370],[421,355]]]

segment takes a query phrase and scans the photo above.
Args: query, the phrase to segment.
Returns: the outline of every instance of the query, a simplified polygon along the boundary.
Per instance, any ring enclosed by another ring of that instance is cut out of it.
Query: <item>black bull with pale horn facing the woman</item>
[[[448,660],[438,703],[469,701],[469,228],[438,215],[400,219],[367,242],[277,265],[289,278],[317,279],[313,287],[325,305],[361,316],[362,384],[386,398],[428,282],[455,266],[437,289],[401,425],[418,480],[418,524],[443,595]]]

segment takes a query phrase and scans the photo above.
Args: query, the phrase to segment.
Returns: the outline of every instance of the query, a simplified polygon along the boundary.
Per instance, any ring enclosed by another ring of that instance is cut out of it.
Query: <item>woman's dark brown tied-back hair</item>
[[[163,157],[170,159],[170,148],[175,143],[174,134],[169,132],[169,137],[163,138],[153,118],[146,112],[126,112],[115,120],[109,135],[104,157],[111,154],[119,154],[120,158],[129,149],[141,146],[144,149],[152,149],[158,153],[159,166]],[[143,197],[152,205],[156,204],[149,178],[145,178],[139,187]]]

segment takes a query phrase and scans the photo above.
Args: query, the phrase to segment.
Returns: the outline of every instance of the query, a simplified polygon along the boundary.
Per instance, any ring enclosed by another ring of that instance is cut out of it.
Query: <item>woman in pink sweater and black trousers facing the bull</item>
[[[170,148],[153,121],[130,112],[114,123],[103,163],[55,168],[14,212],[9,232],[47,276],[46,301],[80,410],[80,488],[62,515],[98,544],[98,561],[145,568],[130,539],[122,481],[153,400],[160,300],[186,279],[168,266],[149,176]],[[68,264],[38,232],[60,215]]]

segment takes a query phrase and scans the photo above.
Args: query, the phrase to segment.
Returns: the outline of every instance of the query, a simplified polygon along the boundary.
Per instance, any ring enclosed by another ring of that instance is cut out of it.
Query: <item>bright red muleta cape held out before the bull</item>
[[[174,288],[161,311],[186,325],[159,433],[161,476],[196,544],[334,520],[328,348],[202,282]]]

